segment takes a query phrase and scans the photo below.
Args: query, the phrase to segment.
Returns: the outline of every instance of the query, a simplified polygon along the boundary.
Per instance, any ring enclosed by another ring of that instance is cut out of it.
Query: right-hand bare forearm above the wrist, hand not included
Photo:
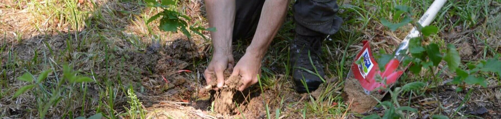
[[[263,57],[273,38],[279,31],[287,13],[289,0],[266,0],[261,12],[258,27],[247,53]]]

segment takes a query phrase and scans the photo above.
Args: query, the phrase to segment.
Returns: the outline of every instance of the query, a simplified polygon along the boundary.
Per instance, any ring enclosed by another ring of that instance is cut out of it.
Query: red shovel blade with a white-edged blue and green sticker
[[[355,78],[360,82],[360,85],[364,88],[364,91],[369,94],[370,91],[373,91],[379,87],[386,87],[386,85],[393,84],[400,75],[402,75],[403,71],[397,70],[400,65],[397,59],[391,59],[385,65],[385,70],[381,72],[379,70],[379,65],[374,60],[374,56],[372,55],[369,41],[363,41],[364,46],[362,50],[357,54],[355,60],[361,60],[360,64],[352,63],[351,71]],[[386,84],[381,81],[376,81],[376,75],[381,75],[383,80],[386,80]]]

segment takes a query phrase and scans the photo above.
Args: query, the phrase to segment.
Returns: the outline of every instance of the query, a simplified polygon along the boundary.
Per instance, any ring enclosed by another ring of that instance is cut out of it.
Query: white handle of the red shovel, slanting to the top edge
[[[433,21],[435,18],[436,14],[438,11],[442,8],[443,4],[445,4],[447,0],[435,0],[433,3],[428,7],[426,12],[424,12],[423,16],[419,18],[418,23],[421,24],[421,26],[426,26]],[[420,35],[419,31],[417,31],[416,27],[412,28],[410,32],[405,36],[404,40],[400,43],[398,48],[395,50],[395,58],[399,59],[399,61],[402,61],[403,55],[401,52],[405,52],[405,54],[408,53],[408,47],[409,47],[409,39],[413,37],[418,37]]]

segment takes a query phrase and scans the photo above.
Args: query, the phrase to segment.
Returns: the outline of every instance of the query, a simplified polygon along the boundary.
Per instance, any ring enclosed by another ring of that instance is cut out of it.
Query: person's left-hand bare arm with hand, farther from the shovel
[[[210,36],[214,47],[212,59],[205,69],[205,80],[210,82],[212,75],[217,77],[217,87],[224,84],[223,72],[235,63],[231,54],[231,39],[235,18],[235,0],[205,0],[205,9],[209,25],[217,31],[211,31]]]

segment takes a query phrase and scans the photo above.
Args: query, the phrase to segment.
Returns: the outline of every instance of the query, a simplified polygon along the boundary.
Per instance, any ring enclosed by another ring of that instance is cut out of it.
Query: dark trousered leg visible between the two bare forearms
[[[258,27],[265,0],[235,0],[235,2],[233,40],[252,37]]]

